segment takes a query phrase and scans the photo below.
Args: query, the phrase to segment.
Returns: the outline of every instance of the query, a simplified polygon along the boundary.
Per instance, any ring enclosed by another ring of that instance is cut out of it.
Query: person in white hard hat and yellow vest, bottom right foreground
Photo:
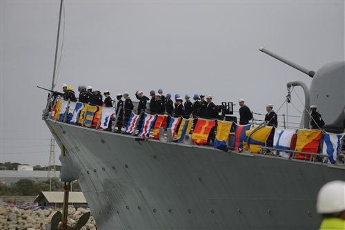
[[[345,229],[345,182],[334,180],[317,194],[316,211],[322,215],[319,230]]]

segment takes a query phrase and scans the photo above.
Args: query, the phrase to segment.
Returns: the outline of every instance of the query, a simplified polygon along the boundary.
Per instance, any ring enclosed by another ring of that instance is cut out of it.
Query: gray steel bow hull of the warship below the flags
[[[46,124],[99,229],[317,229],[320,187],[345,170]]]

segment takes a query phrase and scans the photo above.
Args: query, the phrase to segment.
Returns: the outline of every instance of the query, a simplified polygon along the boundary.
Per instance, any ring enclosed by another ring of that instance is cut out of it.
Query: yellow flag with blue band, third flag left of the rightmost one
[[[250,128],[250,130],[246,131],[246,138],[243,142],[243,148],[245,150],[249,149],[250,153],[259,153],[261,147],[266,146],[266,141],[270,135],[270,132],[272,132],[273,127],[265,126],[255,131],[255,133],[250,136],[248,148],[248,136],[255,130],[255,128],[257,127],[254,126],[253,128]]]

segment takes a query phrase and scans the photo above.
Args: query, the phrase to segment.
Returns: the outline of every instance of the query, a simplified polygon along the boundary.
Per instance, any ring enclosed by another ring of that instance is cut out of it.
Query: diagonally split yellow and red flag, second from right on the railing
[[[297,133],[296,151],[317,153],[321,137],[322,131],[320,130],[300,129]],[[297,153],[295,158],[309,160],[311,159],[311,155]]]

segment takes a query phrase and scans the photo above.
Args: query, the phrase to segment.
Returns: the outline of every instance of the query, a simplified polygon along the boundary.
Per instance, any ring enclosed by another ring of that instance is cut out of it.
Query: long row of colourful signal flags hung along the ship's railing
[[[97,130],[115,131],[117,122],[124,124],[124,115],[116,116],[112,107],[92,106],[81,102],[57,99],[50,119],[68,124],[77,124]],[[110,127],[110,120],[115,124]],[[273,126],[239,125],[219,119],[193,117],[170,117],[150,115],[141,111],[131,113],[124,132],[144,139],[154,138],[165,142],[212,145],[224,151],[250,151],[250,153],[275,155],[287,159],[299,159],[335,164],[342,154],[345,133],[327,133],[315,129],[285,129]],[[168,140],[160,138],[161,132]],[[170,137],[170,138],[169,138]],[[169,140],[172,139],[173,140]],[[192,140],[190,142],[190,139]],[[272,142],[273,143],[268,143]]]

